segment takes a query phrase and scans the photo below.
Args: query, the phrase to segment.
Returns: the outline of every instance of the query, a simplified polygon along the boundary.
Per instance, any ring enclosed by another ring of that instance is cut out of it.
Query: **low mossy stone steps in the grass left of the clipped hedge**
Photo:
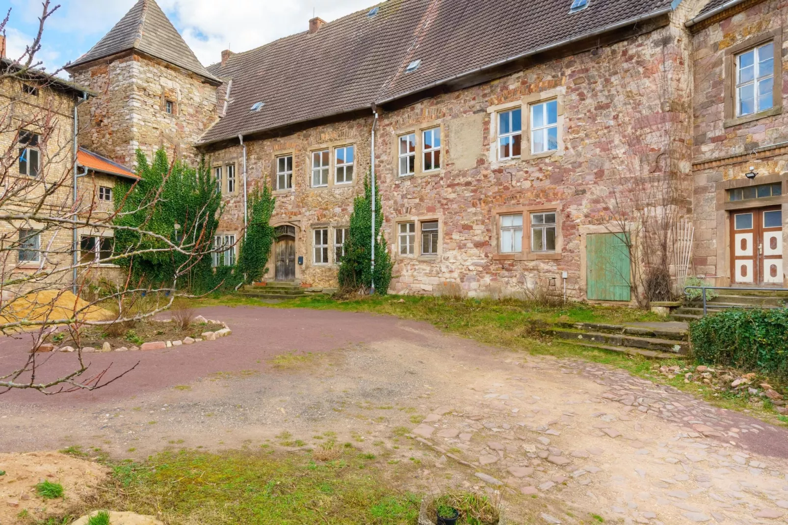
[[[675,359],[689,353],[684,322],[635,322],[612,325],[601,322],[556,323],[542,333],[567,343],[656,359]]]

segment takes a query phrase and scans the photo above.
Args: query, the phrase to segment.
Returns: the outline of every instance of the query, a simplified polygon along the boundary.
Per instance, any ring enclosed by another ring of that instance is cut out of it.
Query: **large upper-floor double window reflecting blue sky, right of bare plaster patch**
[[[493,166],[563,155],[563,97],[558,87],[489,106],[489,161]]]

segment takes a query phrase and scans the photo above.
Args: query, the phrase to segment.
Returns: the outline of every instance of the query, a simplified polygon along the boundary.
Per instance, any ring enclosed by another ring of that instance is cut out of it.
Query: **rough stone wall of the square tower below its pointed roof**
[[[139,54],[80,66],[72,76],[98,95],[80,107],[82,146],[132,168],[137,148],[149,158],[165,147],[171,159],[199,161],[193,145],[217,117],[216,86]]]

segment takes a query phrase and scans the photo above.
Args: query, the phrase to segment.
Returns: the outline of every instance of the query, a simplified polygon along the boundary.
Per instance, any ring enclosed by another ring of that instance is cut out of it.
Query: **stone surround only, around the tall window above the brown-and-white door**
[[[753,114],[737,116],[736,114],[736,72],[737,65],[736,59],[739,55],[746,53],[748,50],[755,47],[761,47],[769,42],[774,43],[774,86],[772,87],[772,103],[773,105],[768,110],[763,110]],[[724,82],[724,116],[723,127],[730,128],[733,126],[745,124],[760,120],[765,117],[772,117],[774,115],[782,114],[782,30],[778,29],[771,32],[764,32],[760,35],[753,36],[746,39],[742,43],[729,47],[725,51],[724,58],[725,68],[725,82]]]

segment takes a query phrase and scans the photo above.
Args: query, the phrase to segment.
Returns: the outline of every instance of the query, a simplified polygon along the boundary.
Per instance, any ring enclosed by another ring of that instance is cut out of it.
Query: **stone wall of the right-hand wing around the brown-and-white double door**
[[[766,205],[782,206],[782,275],[788,286],[788,87],[786,43],[782,25],[788,7],[782,2],[745,2],[738,12],[712,17],[693,28],[693,211],[695,238],[693,263],[697,275],[721,286],[731,283],[730,214]],[[754,117],[731,114],[734,89],[732,61],[736,54],[775,42],[782,62],[782,83],[775,108]],[[727,105],[729,105],[727,107]],[[746,178],[750,167],[757,173]],[[727,191],[755,184],[781,183],[782,196],[730,203]]]

